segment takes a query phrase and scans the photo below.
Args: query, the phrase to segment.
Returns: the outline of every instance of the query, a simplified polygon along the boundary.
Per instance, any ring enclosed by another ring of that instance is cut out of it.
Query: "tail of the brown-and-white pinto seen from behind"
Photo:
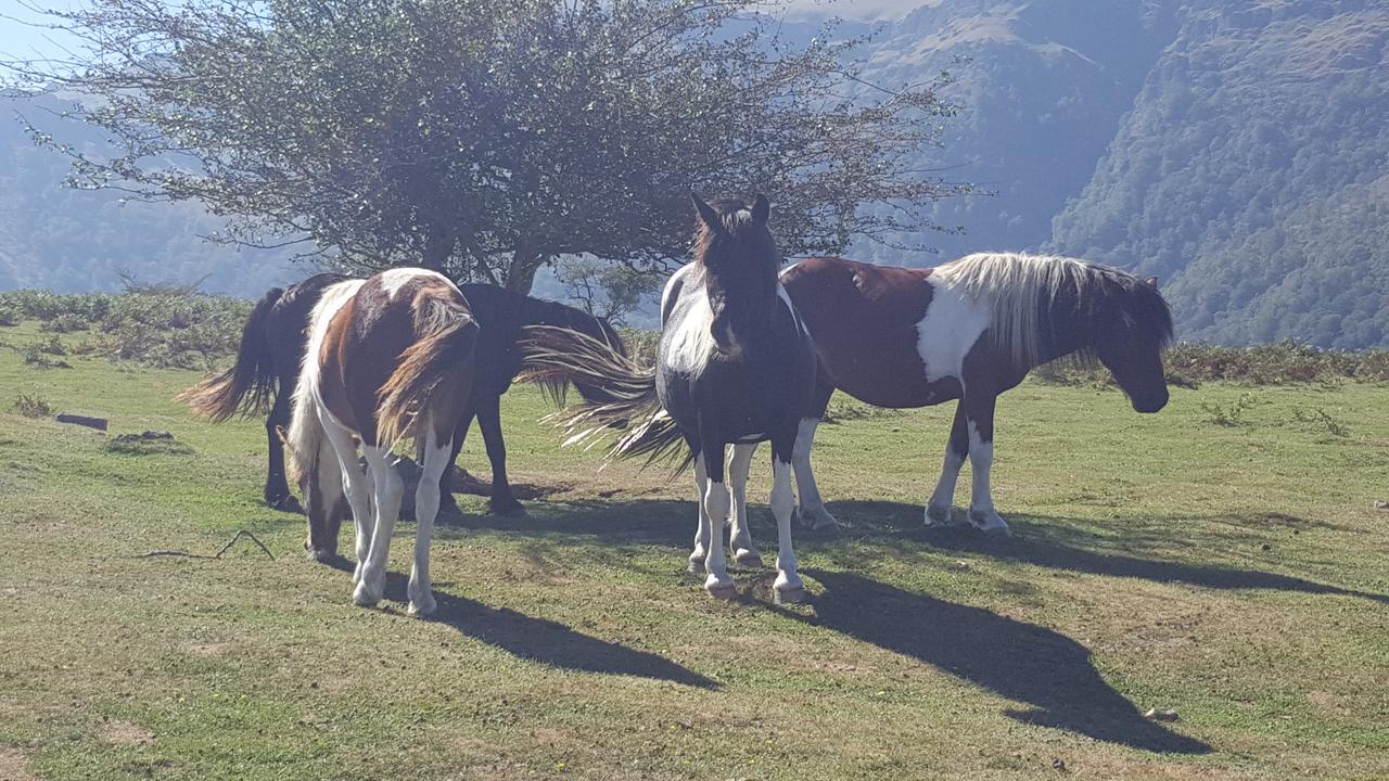
[[[424,289],[415,296],[415,342],[376,395],[376,443],[393,446],[428,417],[440,385],[463,388],[472,377],[478,321],[461,295]]]

